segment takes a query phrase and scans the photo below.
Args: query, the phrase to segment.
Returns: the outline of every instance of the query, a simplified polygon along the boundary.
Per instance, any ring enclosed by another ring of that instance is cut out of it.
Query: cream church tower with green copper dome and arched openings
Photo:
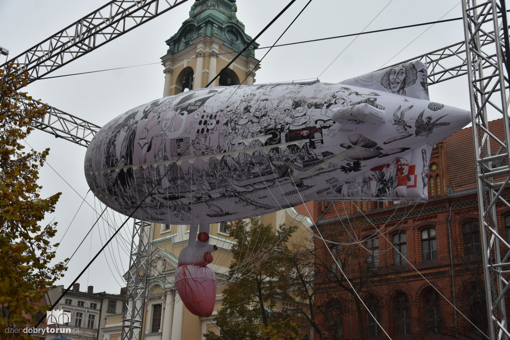
[[[190,17],[170,39],[165,67],[163,96],[211,86],[251,85],[258,70],[254,43],[230,67],[226,65],[246,46],[251,37],[236,16],[236,0],[197,0]],[[257,66],[257,67],[256,67]]]

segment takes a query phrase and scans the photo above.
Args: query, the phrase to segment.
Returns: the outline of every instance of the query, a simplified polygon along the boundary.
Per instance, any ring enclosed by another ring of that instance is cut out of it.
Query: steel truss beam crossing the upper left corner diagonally
[[[187,1],[113,0],[6,64],[14,62],[27,70],[28,85]]]

